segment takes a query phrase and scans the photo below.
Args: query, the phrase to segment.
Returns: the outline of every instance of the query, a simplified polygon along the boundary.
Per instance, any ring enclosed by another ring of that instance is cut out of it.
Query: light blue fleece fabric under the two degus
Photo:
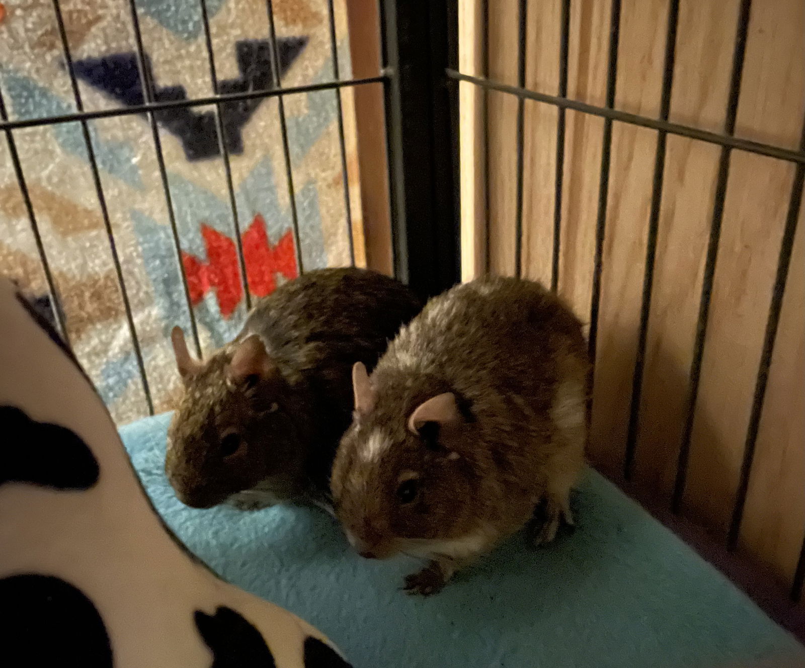
[[[609,482],[588,473],[579,528],[507,542],[428,599],[398,591],[415,563],[353,554],[316,510],[193,510],[163,473],[169,416],[122,428],[167,524],[225,579],[311,621],[355,668],[732,668],[805,649]]]

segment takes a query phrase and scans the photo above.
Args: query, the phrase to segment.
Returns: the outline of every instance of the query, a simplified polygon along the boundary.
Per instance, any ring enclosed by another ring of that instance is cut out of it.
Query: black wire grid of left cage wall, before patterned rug
[[[78,84],[78,78],[75,72],[75,66],[72,60],[72,52],[69,45],[68,33],[64,24],[64,14],[60,5],[60,0],[52,0],[52,10],[56,19],[56,27],[60,40],[60,50],[64,59],[65,68],[69,77],[70,90],[72,93],[73,104],[75,111],[70,113],[58,113],[52,115],[45,115],[35,118],[10,118],[6,101],[3,97],[2,89],[0,89],[0,130],[6,136],[6,145],[8,147],[10,162],[13,167],[14,177],[19,187],[19,192],[23,199],[23,204],[27,219],[31,228],[31,233],[35,241],[37,254],[39,255],[39,262],[42,266],[45,282],[47,283],[47,295],[50,298],[53,317],[56,322],[56,327],[59,329],[60,334],[64,337],[68,346],[71,345],[68,333],[67,315],[64,313],[64,307],[60,299],[59,290],[56,285],[56,280],[53,276],[51,263],[47,258],[47,252],[43,244],[42,234],[39,229],[39,223],[35,215],[35,209],[31,201],[31,192],[27,183],[26,175],[23,171],[23,164],[19,159],[19,150],[17,138],[14,137],[15,130],[24,130],[27,128],[43,127],[43,126],[59,126],[63,123],[77,122],[81,126],[81,133],[83,142],[89,158],[89,167],[92,172],[94,188],[97,196],[97,204],[101,210],[101,217],[103,218],[105,234],[111,252],[115,275],[122,297],[123,307],[126,313],[126,326],[129,331],[130,341],[136,365],[138,368],[138,376],[142,393],[147,403],[147,410],[149,414],[154,414],[154,402],[151,397],[151,386],[147,375],[145,362],[142,355],[142,349],[134,324],[134,315],[130,303],[129,291],[126,287],[126,281],[122,271],[122,260],[119,257],[118,249],[115,243],[114,231],[109,219],[108,207],[106,204],[106,196],[101,183],[100,171],[97,164],[97,157],[95,155],[95,147],[93,146],[93,139],[90,136],[89,122],[103,118],[116,118],[116,117],[130,117],[130,116],[143,116],[147,118],[149,128],[151,131],[151,142],[155,151],[156,163],[159,171],[159,179],[161,182],[163,197],[166,204],[167,219],[171,230],[171,244],[173,246],[173,254],[175,263],[178,269],[178,274],[181,280],[181,287],[183,292],[184,303],[187,307],[192,344],[195,348],[196,354],[200,357],[201,342],[199,336],[199,325],[196,319],[196,311],[191,302],[190,287],[188,284],[188,276],[184,269],[182,262],[182,248],[180,244],[180,235],[176,223],[176,211],[173,196],[171,195],[171,188],[168,183],[167,168],[165,158],[163,155],[162,141],[159,135],[159,128],[157,124],[156,114],[158,112],[167,111],[170,109],[192,109],[204,105],[213,105],[215,109],[215,130],[217,134],[217,146],[220,151],[221,159],[224,166],[226,190],[229,197],[229,210],[232,217],[234,227],[234,239],[237,248],[237,264],[240,281],[243,286],[243,294],[246,301],[246,307],[252,306],[252,294],[248,284],[248,275],[246,273],[246,258],[242,246],[242,229],[238,219],[237,204],[235,189],[233,184],[232,171],[229,159],[229,149],[224,141],[225,128],[221,118],[221,108],[225,105],[234,104],[242,101],[262,100],[269,98],[277,98],[278,101],[278,116],[279,128],[281,134],[281,144],[283,152],[283,162],[287,179],[287,192],[289,194],[289,202],[291,209],[291,232],[293,238],[293,245],[295,251],[296,266],[299,267],[299,272],[303,273],[303,242],[299,236],[299,214],[296,209],[296,193],[295,183],[293,178],[293,169],[291,167],[291,148],[289,145],[286,112],[284,109],[284,98],[289,95],[299,93],[316,93],[322,91],[332,91],[336,101],[336,128],[338,135],[338,151],[340,153],[340,171],[341,171],[341,184],[344,199],[345,210],[345,231],[347,233],[349,262],[354,266],[355,264],[355,249],[352,232],[352,212],[349,200],[349,175],[347,171],[347,158],[345,146],[345,123],[344,113],[341,107],[341,89],[349,89],[357,86],[381,84],[384,88],[389,85],[389,80],[393,76],[393,72],[389,72],[387,68],[382,68],[377,76],[365,76],[360,78],[341,79],[339,64],[338,64],[338,51],[336,46],[336,18],[333,1],[328,0],[327,16],[328,23],[328,38],[330,40],[328,53],[332,60],[332,80],[324,82],[316,82],[306,85],[296,85],[283,87],[280,79],[279,72],[279,51],[278,39],[275,31],[274,9],[271,0],[266,0],[266,17],[269,27],[269,34],[267,35],[271,47],[271,74],[275,81],[275,87],[270,89],[249,89],[242,92],[235,93],[221,93],[219,81],[217,77],[216,61],[213,52],[213,40],[209,25],[209,16],[206,0],[199,0],[200,18],[202,23],[202,32],[204,40],[204,49],[208,60],[208,76],[212,85],[213,94],[208,96],[190,97],[181,100],[163,100],[157,101],[155,93],[155,82],[150,76],[150,70],[147,66],[146,50],[143,45],[142,29],[140,27],[140,20],[138,15],[138,5],[136,0],[129,0],[128,19],[130,21],[131,33],[134,38],[135,56],[138,68],[138,79],[142,89],[142,103],[114,107],[109,109],[85,109],[81,97],[81,89]],[[385,39],[383,39],[382,50],[385,53]],[[387,115],[387,114],[386,114]]]

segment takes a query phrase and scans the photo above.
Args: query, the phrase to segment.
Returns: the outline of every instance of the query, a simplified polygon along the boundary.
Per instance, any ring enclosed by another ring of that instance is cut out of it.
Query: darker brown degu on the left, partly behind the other
[[[184,397],[165,469],[185,504],[329,505],[329,474],[353,410],[353,365],[374,367],[422,304],[370,270],[310,271],[250,312],[243,331],[202,362],[174,328]]]

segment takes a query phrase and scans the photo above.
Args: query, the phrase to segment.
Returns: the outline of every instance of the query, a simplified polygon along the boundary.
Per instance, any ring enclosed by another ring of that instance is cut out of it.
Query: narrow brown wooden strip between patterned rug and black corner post
[[[349,25],[349,49],[353,76],[375,76],[380,71],[380,27],[378,4],[374,0],[346,0]],[[386,120],[383,113],[382,85],[356,86],[346,100],[347,118],[354,116],[357,128],[354,142],[357,155],[357,178],[360,181],[365,252],[361,253],[360,235],[354,233],[356,260],[363,256],[365,266],[391,275],[391,221],[389,183],[386,164]],[[354,214],[353,209],[353,214]]]

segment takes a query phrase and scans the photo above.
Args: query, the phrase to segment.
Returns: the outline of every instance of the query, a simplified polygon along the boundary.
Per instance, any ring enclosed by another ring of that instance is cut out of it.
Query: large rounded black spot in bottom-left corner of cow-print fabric
[[[113,665],[101,615],[72,584],[51,575],[14,575],[0,579],[0,602],[2,666]]]

